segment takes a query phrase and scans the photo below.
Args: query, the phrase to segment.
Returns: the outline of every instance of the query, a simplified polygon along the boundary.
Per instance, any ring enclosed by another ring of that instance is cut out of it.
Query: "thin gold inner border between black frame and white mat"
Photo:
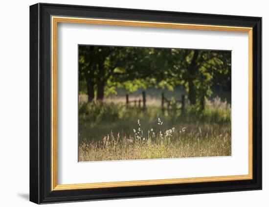
[[[57,184],[57,24],[62,23],[83,23],[83,24],[102,24],[117,26],[136,26],[136,27],[158,27],[174,29],[194,29],[211,31],[229,31],[229,32],[247,32],[248,33],[248,174],[247,175],[229,175],[214,177],[195,177],[195,178],[177,178],[177,179],[159,179],[159,180],[140,180],[140,181],[121,181],[105,183],[85,183],[85,184]],[[167,184],[201,183],[201,182],[219,182],[250,180],[253,178],[252,170],[252,28],[234,27],[219,25],[202,24],[181,24],[167,22],[134,21],[134,20],[115,20],[115,19],[88,19],[73,17],[51,17],[51,190],[75,190],[90,188],[116,188],[116,187],[134,187],[134,186],[153,186]]]

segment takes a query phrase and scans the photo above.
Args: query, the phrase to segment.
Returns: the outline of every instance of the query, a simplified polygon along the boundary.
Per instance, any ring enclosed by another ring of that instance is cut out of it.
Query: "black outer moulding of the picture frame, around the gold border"
[[[253,179],[51,190],[51,16],[253,28]],[[262,18],[37,3],[30,6],[30,201],[37,204],[262,189]]]

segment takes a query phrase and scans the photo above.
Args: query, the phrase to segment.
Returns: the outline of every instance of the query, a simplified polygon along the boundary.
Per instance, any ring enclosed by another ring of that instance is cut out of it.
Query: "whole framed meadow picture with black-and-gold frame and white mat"
[[[30,6],[30,201],[262,188],[262,18]]]

